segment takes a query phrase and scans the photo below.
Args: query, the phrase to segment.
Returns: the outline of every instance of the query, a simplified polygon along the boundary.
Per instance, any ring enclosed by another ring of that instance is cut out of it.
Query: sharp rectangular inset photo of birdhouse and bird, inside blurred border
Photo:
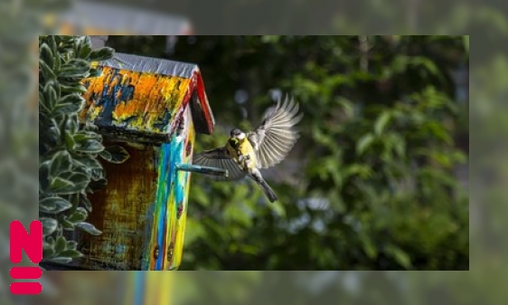
[[[469,269],[463,36],[40,36],[46,270]]]

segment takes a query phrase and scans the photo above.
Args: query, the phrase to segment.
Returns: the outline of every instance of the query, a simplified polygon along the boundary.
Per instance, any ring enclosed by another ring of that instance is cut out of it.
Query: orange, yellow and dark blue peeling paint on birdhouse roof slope
[[[102,75],[87,81],[81,118],[99,127],[167,134],[191,79],[99,67]]]

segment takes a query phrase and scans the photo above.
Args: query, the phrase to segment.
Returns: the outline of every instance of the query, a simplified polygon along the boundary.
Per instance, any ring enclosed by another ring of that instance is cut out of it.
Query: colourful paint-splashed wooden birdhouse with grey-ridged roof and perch
[[[82,121],[99,127],[105,145],[120,145],[125,163],[104,162],[108,185],[89,195],[89,223],[80,234],[87,270],[174,270],[180,265],[194,135],[212,134],[214,119],[195,64],[125,53],[99,62],[86,80]],[[217,170],[217,175],[227,175]]]

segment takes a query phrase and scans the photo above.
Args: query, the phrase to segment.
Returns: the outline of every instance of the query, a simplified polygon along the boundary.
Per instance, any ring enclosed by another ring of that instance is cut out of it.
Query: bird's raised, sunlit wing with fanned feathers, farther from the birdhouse
[[[303,114],[298,113],[298,104],[286,98],[281,104],[268,110],[258,129],[249,132],[247,137],[258,158],[259,168],[273,167],[282,161],[293,148],[298,138],[296,123]]]

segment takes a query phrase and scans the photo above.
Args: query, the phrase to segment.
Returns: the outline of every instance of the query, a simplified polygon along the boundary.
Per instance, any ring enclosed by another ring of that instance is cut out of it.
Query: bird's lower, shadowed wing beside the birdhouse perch
[[[245,176],[235,160],[228,156],[226,148],[206,150],[193,157],[193,164],[202,167],[216,167],[227,169],[229,176],[212,176],[213,180],[238,180]]]

